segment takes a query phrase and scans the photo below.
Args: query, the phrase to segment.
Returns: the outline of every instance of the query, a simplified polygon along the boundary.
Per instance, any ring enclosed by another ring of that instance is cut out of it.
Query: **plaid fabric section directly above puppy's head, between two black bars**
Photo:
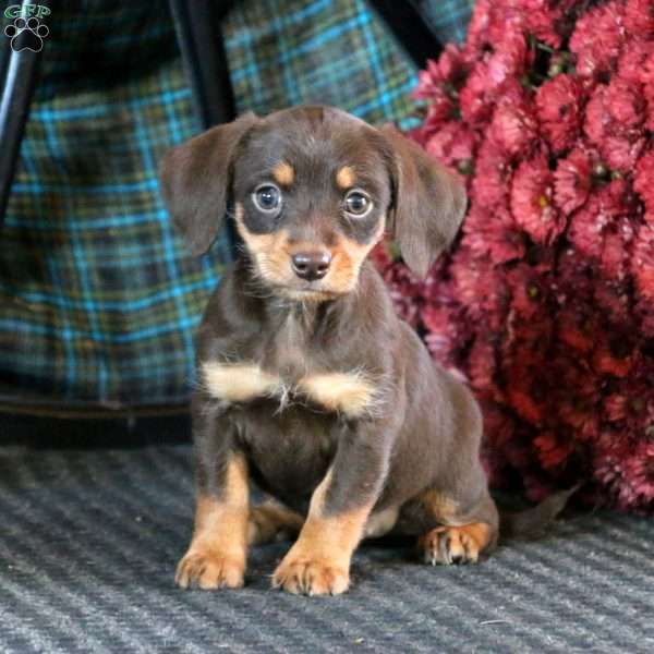
[[[341,107],[413,126],[415,70],[363,0],[250,0],[225,23],[240,110]]]

